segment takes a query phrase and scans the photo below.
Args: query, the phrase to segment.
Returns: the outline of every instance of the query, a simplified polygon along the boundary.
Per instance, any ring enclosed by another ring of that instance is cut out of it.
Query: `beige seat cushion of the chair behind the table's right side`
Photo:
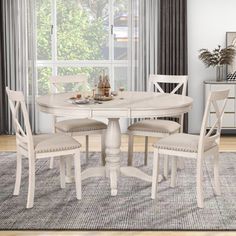
[[[129,131],[143,131],[172,134],[180,129],[180,124],[170,120],[142,120],[128,127]]]

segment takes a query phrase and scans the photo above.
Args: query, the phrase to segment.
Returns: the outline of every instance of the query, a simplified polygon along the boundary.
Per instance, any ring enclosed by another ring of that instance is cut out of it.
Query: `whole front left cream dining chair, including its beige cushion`
[[[20,193],[23,157],[28,158],[29,161],[29,185],[26,207],[32,208],[34,205],[36,160],[51,156],[60,157],[60,184],[61,188],[65,188],[65,158],[74,156],[76,197],[81,199],[80,143],[72,137],[63,134],[32,135],[23,93],[9,90],[9,88],[6,88],[6,92],[16,132],[17,166],[13,195],[19,195]],[[19,122],[19,115],[23,117],[23,126]]]

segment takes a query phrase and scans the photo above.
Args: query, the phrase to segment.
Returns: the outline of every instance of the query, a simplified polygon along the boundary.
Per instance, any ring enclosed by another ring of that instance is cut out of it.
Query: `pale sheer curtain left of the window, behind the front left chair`
[[[25,94],[32,130],[35,131],[35,0],[2,0],[1,4],[6,85]],[[9,134],[13,132],[11,119],[8,119],[7,131]]]

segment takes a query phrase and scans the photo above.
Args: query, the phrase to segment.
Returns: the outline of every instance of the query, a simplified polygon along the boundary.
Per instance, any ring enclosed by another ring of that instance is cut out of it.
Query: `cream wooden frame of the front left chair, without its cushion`
[[[35,162],[36,159],[60,157],[60,182],[61,188],[65,188],[65,157],[74,156],[75,165],[75,185],[77,199],[81,199],[81,168],[80,168],[80,149],[71,149],[60,152],[36,153],[34,150],[33,135],[30,127],[29,116],[25,105],[25,98],[22,92],[12,91],[6,88],[9,98],[9,106],[12,112],[13,124],[16,132],[16,149],[17,149],[17,166],[16,166],[16,181],[13,195],[19,195],[22,174],[22,158],[26,157],[29,160],[29,185],[27,208],[32,208],[34,204],[35,192]],[[24,128],[20,125],[18,114],[22,112]]]

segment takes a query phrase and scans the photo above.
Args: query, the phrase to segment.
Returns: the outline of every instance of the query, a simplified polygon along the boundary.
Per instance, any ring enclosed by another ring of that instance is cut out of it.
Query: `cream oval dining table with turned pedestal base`
[[[107,118],[106,165],[89,167],[82,174],[82,180],[103,176],[110,179],[111,195],[117,195],[117,182],[120,175],[136,177],[151,182],[152,177],[133,166],[120,165],[121,130],[120,118],[154,118],[179,116],[190,111],[193,99],[176,94],[152,92],[122,92],[110,101],[101,104],[77,105],[68,102],[76,93],[60,93],[37,98],[41,112],[68,118]]]

